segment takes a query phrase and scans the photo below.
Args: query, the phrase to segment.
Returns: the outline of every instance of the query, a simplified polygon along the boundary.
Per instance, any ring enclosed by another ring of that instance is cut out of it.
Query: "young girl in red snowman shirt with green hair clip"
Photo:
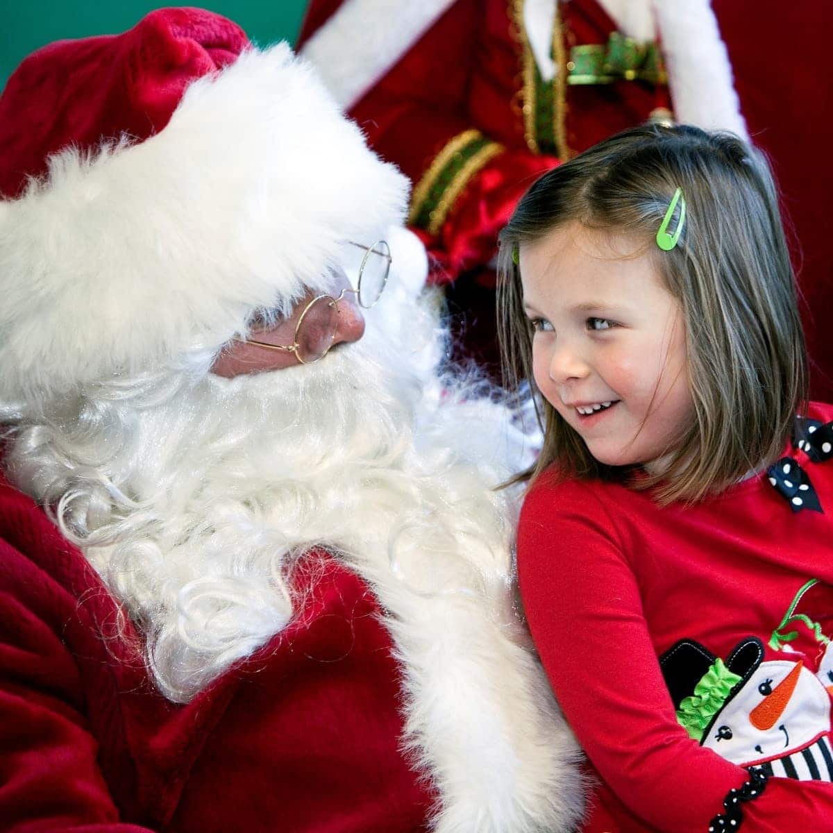
[[[833,408],[766,162],[621,133],[531,187],[500,266],[544,401],[521,596],[597,776],[583,829],[833,831]]]

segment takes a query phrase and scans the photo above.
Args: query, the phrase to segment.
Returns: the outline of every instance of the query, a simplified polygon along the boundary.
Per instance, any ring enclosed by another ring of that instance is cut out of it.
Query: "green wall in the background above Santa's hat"
[[[140,0],[0,0],[0,87],[17,64],[45,43],[66,37],[123,32],[154,8],[174,5]],[[182,2],[186,5],[186,2]],[[190,5],[211,9],[239,23],[260,46],[280,40],[294,42],[306,0],[192,0]]]

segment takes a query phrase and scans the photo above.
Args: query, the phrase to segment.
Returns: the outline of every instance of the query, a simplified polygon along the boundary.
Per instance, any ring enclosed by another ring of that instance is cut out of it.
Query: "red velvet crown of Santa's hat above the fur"
[[[162,130],[194,78],[248,46],[236,23],[198,8],[150,12],[120,35],[50,43],[32,52],[0,97],[0,194],[17,197],[47,157],[127,134]]]

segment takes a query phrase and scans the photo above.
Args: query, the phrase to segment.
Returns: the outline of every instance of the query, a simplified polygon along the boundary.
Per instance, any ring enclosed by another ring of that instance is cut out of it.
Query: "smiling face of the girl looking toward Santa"
[[[574,223],[520,255],[541,394],[597,461],[660,473],[694,409],[685,322],[652,252]]]

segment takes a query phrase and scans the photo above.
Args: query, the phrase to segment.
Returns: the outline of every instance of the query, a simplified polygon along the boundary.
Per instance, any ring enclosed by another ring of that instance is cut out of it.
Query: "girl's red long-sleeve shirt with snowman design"
[[[808,416],[826,423],[833,407],[813,405]],[[693,506],[661,508],[647,491],[557,483],[548,472],[526,496],[521,597],[547,676],[600,782],[587,833],[706,833],[729,791],[749,779],[745,766],[761,763],[773,776],[743,806],[745,833],[833,831],[833,766],[826,766],[833,459],[814,462],[794,446],[785,454],[809,478],[823,512],[793,511],[766,473]],[[676,648],[675,672],[696,681],[696,656],[730,661],[745,642],[748,657],[756,640],[763,654],[736,668],[743,681],[701,741],[692,739],[670,693],[679,699],[685,684],[666,680],[660,658]],[[690,666],[680,661],[686,656]],[[761,703],[771,689],[781,711],[767,721]]]

